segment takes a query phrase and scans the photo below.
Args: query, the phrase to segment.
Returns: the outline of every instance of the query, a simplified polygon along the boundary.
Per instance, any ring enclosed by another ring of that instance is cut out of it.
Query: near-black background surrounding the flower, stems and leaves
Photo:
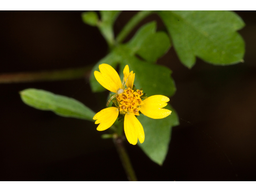
[[[96,63],[106,55],[107,44],[96,27],[82,22],[81,13],[0,12],[0,73]],[[120,14],[115,34],[135,13]],[[172,130],[163,166],[126,142],[138,180],[256,179],[256,12],[236,13],[246,23],[239,31],[246,42],[244,63],[214,66],[197,59],[189,70],[173,47],[158,60],[173,71],[177,91],[170,104],[180,126]],[[140,26],[151,20],[165,30],[155,14]],[[107,94],[92,93],[88,76],[0,84],[0,180],[127,180],[112,140],[100,138],[107,131],[27,106],[18,94],[26,88],[73,97],[95,112]]]

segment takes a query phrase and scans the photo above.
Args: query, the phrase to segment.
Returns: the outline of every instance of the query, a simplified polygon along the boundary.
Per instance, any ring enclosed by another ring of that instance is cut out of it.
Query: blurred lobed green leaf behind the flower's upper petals
[[[142,26],[138,30],[134,38],[124,45],[120,45],[112,50],[105,58],[100,60],[92,69],[92,74],[90,76],[90,84],[92,91],[99,92],[105,90],[95,79],[93,72],[98,70],[98,66],[102,63],[116,67],[120,64],[120,78],[123,78],[123,69],[125,65],[128,65],[130,71],[134,71],[135,81],[134,84],[137,88],[143,88],[143,90],[150,95],[161,94],[165,96],[172,96],[176,91],[174,80],[171,78],[171,70],[167,67],[155,65],[150,61],[140,60],[135,56],[138,50],[146,50],[144,46],[148,44],[151,40],[152,35],[155,35],[155,39],[164,40],[167,35],[163,35],[162,32],[156,32],[156,23],[151,22]],[[146,43],[145,43],[146,42]],[[169,40],[167,41],[169,42]],[[154,48],[153,48],[154,47]],[[160,57],[166,50],[170,47],[170,43],[164,44],[163,46],[159,45],[158,42],[152,42],[152,48],[148,49],[151,56],[148,56],[147,53],[142,55],[148,60],[155,60]],[[160,51],[153,51],[158,49]],[[151,51],[151,52],[150,52]],[[143,52],[143,51],[142,51]],[[163,83],[164,82],[164,83]]]

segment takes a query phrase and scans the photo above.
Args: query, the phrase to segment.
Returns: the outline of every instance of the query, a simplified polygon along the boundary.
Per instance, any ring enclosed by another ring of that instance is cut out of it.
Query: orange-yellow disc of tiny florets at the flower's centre
[[[125,89],[122,93],[118,94],[116,100],[119,104],[120,113],[125,114],[126,112],[129,112],[134,115],[140,115],[140,106],[144,104],[140,98],[142,95],[142,90],[134,91],[130,88]]]

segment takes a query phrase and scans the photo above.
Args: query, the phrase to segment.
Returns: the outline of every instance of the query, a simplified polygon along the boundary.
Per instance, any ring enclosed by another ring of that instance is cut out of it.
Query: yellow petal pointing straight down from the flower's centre
[[[124,116],[124,132],[130,144],[136,145],[138,138],[140,143],[144,142],[145,134],[139,120],[133,115],[126,113]]]

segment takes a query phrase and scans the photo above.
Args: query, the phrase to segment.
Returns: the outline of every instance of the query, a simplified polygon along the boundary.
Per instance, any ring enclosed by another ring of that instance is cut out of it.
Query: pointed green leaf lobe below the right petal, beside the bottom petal
[[[152,119],[141,114],[138,120],[143,126],[145,132],[145,140],[138,145],[145,154],[154,162],[162,165],[171,139],[172,126],[179,124],[178,115],[169,104],[165,107],[172,110],[172,113],[163,119]]]

